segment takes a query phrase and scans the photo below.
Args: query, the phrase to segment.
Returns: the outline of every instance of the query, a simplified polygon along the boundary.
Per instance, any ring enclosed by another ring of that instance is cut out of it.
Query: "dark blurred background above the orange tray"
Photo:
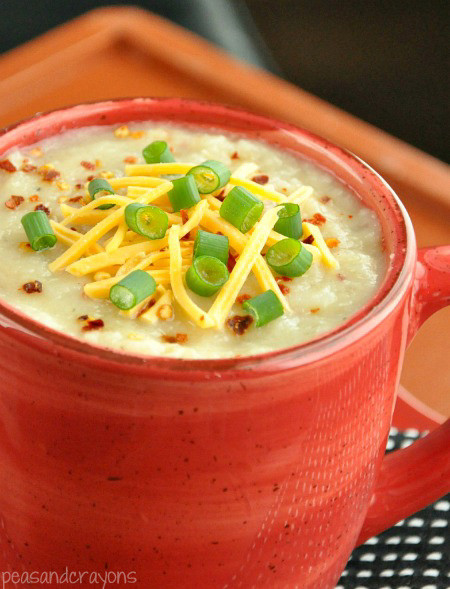
[[[0,51],[111,4],[166,16],[448,159],[448,0],[0,0]]]

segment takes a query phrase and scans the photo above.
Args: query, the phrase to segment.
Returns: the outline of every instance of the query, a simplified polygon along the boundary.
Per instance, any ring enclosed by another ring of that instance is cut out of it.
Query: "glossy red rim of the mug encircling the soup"
[[[272,117],[253,113],[241,107],[228,106],[222,103],[212,101],[170,97],[132,97],[84,102],[80,104],[65,106],[62,108],[56,108],[45,112],[39,112],[31,117],[27,117],[25,119],[22,119],[18,122],[15,122],[9,126],[0,129],[0,141],[5,137],[5,135],[8,135],[9,133],[14,132],[16,130],[19,130],[23,126],[33,124],[41,120],[45,121],[46,117],[50,119],[48,123],[51,124],[51,117],[55,117],[58,114],[64,115],[68,111],[76,111],[77,109],[89,109],[89,107],[91,107],[94,110],[93,114],[98,114],[100,116],[100,114],[102,113],[102,107],[104,109],[103,112],[106,112],[108,108],[111,107],[119,109],[121,106],[126,107],[127,105],[145,105],[151,108],[151,105],[165,105],[170,104],[171,102],[173,102],[173,107],[178,106],[178,108],[180,108],[181,106],[191,109],[198,108],[200,109],[200,111],[202,108],[209,110],[217,109],[222,110],[224,113],[227,113],[229,115],[243,117],[244,120],[253,120],[255,122],[260,121],[261,123],[269,124],[279,131],[291,132],[294,133],[295,136],[301,137],[303,139],[308,138],[309,140],[312,140],[312,142],[317,146],[337,152],[338,156],[340,156],[341,158],[347,158],[347,160],[350,160],[353,163],[353,165],[357,165],[357,168],[359,169],[359,178],[363,178],[363,176],[365,176],[363,175],[363,172],[368,172],[369,178],[375,179],[393,199],[395,207],[397,211],[400,213],[402,229],[404,230],[406,238],[405,247],[403,248],[403,251],[400,252],[400,254],[402,254],[401,269],[396,275],[392,284],[390,286],[388,285],[388,288],[386,289],[388,283],[387,279],[389,278],[389,275],[392,272],[392,266],[389,265],[386,270],[383,281],[377,288],[374,295],[369,299],[369,301],[367,301],[367,303],[362,308],[357,309],[354,313],[352,313],[352,315],[344,323],[341,323],[336,328],[330,331],[326,331],[318,337],[303,342],[301,344],[297,344],[287,348],[272,350],[270,352],[265,352],[263,354],[254,354],[251,356],[225,358],[174,358],[168,356],[149,356],[144,354],[116,350],[113,348],[105,348],[87,342],[85,340],[77,339],[74,336],[66,335],[62,331],[58,331],[38,321],[35,321],[32,317],[9,305],[6,301],[4,301],[1,298],[0,326],[15,328],[21,332],[33,335],[37,337],[37,341],[39,341],[40,344],[44,344],[44,346],[47,348],[52,348],[53,346],[56,346],[62,350],[73,351],[78,354],[82,354],[86,359],[94,361],[104,360],[107,362],[114,362],[122,365],[144,367],[147,366],[154,368],[154,361],[157,360],[158,370],[160,372],[212,371],[216,373],[216,375],[218,375],[219,371],[228,372],[230,370],[239,370],[245,372],[253,371],[256,368],[259,371],[271,370],[274,364],[277,365],[277,369],[279,369],[279,365],[282,365],[284,368],[287,368],[290,365],[300,366],[308,364],[310,362],[317,361],[321,358],[331,355],[339,349],[345,348],[350,343],[360,339],[360,337],[362,337],[365,333],[372,331],[372,329],[374,329],[379,323],[381,323],[383,319],[386,316],[388,316],[393,309],[395,309],[398,302],[403,298],[404,294],[406,293],[409,284],[413,278],[412,270],[414,268],[417,256],[416,239],[411,219],[403,203],[401,202],[395,191],[392,189],[392,187],[369,164],[367,164],[360,157],[350,152],[349,150],[337,146],[331,141],[328,141],[327,139],[319,135],[316,135],[315,133],[312,133],[306,129],[303,129],[291,123],[274,119]],[[100,110],[98,110],[98,112],[95,112],[96,109]],[[149,114],[150,112],[151,110],[149,111]],[[201,112],[199,114],[201,115]],[[123,121],[122,124],[126,122],[131,123],[135,120],[136,119],[133,118],[127,118]],[[152,119],[149,117],[148,120],[150,121]],[[97,124],[99,124],[99,122],[100,121],[98,121]],[[181,125],[183,124],[181,121],[177,121],[177,123]],[[110,125],[111,123],[105,124]],[[195,126],[195,124],[188,124],[190,126]],[[81,124],[79,127],[74,128],[83,128],[94,125],[95,123],[90,123],[89,125]],[[218,129],[220,130],[220,128],[221,126],[219,124]],[[222,131],[227,132],[223,129]],[[62,132],[64,132],[64,130]],[[242,136],[245,136],[245,133],[243,133],[242,131],[241,133]],[[55,133],[55,135],[56,134],[58,133]],[[270,142],[268,143],[270,145]],[[15,143],[14,145],[16,146],[17,143]],[[6,150],[6,152],[8,151],[8,149]],[[284,151],[287,151],[287,149],[284,148]],[[2,155],[3,153],[0,152],[0,156]],[[314,160],[311,161],[314,164]],[[317,166],[318,163],[316,162],[315,165]],[[331,170],[327,170],[326,168],[325,171],[328,174],[332,173]],[[342,183],[340,179],[338,179],[338,182]],[[390,208],[391,211],[394,210],[394,207],[392,205],[390,205]],[[394,222],[392,222],[391,225],[394,226]],[[399,222],[397,222],[397,225],[399,225]],[[385,292],[383,292],[384,290]],[[374,301],[376,301],[376,299],[378,298],[379,301],[374,303]]]

